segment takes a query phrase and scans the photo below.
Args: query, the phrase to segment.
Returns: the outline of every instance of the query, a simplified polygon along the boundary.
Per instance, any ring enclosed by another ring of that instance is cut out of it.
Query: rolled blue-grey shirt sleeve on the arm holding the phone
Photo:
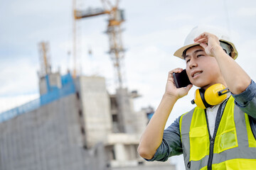
[[[182,154],[181,135],[179,130],[180,118],[181,116],[166,128],[166,130],[164,130],[161,145],[156,150],[154,157],[152,159],[146,159],[146,161],[165,162],[171,156]]]

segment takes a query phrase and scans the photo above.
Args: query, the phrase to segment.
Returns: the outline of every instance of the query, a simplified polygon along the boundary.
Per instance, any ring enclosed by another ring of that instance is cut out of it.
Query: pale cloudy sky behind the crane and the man
[[[102,8],[100,0],[77,2],[81,9]],[[124,9],[125,18],[124,85],[142,95],[134,100],[135,110],[157,108],[168,72],[186,67],[173,54],[198,25],[228,30],[238,50],[236,62],[255,80],[256,1],[122,0],[119,8]],[[50,45],[53,71],[65,74],[73,69],[71,0],[1,0],[0,24],[0,108],[20,103],[21,96],[23,102],[38,97],[39,42]],[[114,93],[114,67],[107,54],[109,41],[105,33],[107,16],[86,18],[77,25],[79,73],[105,77],[108,91]],[[188,96],[178,100],[166,126],[194,107],[190,101],[195,90],[193,87]]]

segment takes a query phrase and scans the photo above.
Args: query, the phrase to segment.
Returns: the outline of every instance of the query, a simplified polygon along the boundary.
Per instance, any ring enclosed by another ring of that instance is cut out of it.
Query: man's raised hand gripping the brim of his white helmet
[[[211,33],[202,33],[197,38],[194,39],[194,42],[199,42],[201,47],[204,48],[207,55],[215,57],[215,51],[220,48],[220,41],[216,35]],[[224,52],[224,51],[223,51]]]

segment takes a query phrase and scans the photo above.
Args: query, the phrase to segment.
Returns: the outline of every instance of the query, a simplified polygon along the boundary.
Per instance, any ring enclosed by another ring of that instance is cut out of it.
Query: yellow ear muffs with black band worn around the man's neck
[[[204,89],[197,89],[195,92],[195,99],[193,99],[191,103],[196,103],[196,106],[199,108],[206,109],[223,102],[227,97],[228,92],[228,88],[225,88],[223,84],[213,84],[206,89],[206,91]]]

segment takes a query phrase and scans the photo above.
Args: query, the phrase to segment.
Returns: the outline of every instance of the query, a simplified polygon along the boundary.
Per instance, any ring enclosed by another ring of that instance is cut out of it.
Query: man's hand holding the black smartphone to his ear
[[[167,96],[173,96],[173,97],[176,97],[176,99],[182,98],[183,96],[186,96],[188,94],[188,91],[193,86],[192,84],[189,84],[186,87],[182,87],[182,88],[178,88],[178,89],[176,88],[175,83],[174,83],[173,73],[174,72],[180,73],[182,70],[183,69],[181,69],[181,68],[176,68],[169,72],[167,83],[166,83],[166,91],[165,91],[165,94]]]

